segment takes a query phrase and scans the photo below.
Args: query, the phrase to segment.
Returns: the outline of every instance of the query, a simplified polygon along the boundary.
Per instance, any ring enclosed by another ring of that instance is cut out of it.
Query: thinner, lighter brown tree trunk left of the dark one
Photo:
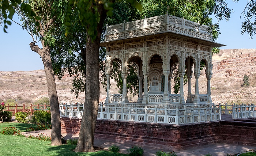
[[[54,79],[54,71],[52,68],[52,60],[50,58],[50,48],[44,46],[44,41],[42,41],[43,49],[40,49],[35,43],[30,43],[30,48],[32,51],[37,52],[41,56],[45,68],[45,76],[48,88],[48,96],[50,101],[50,113],[52,121],[52,144],[61,145],[61,126],[60,126],[60,110],[59,110],[59,100],[56,90],[56,83]]]

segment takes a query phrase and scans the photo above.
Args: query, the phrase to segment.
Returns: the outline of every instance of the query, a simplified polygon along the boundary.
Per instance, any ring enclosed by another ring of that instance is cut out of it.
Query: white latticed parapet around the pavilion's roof
[[[124,21],[124,23],[120,24],[107,25],[105,41],[164,31],[212,41],[212,35],[208,33],[208,26],[200,24],[199,22],[196,23],[184,18],[168,15],[168,13],[151,18],[145,17],[144,19],[132,22]]]

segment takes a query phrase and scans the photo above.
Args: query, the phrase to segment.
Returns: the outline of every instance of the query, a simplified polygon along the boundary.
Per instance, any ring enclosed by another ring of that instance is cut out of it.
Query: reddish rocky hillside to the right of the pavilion
[[[256,103],[256,49],[224,49],[212,57],[215,103]],[[249,87],[243,87],[244,75]]]

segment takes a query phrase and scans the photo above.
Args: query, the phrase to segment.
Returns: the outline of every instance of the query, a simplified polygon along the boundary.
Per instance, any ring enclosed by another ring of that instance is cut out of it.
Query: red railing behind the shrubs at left
[[[11,111],[12,112],[12,115],[14,115],[15,113],[17,112],[27,112],[27,113],[30,113],[30,115],[33,114],[33,112],[35,110],[46,110],[47,107],[49,107],[50,105],[32,105],[30,104],[30,106],[26,106],[25,104],[23,104],[22,106],[18,106],[18,104],[15,104],[15,106],[10,106],[9,104],[7,104],[7,109],[4,109],[3,111]],[[18,109],[18,107],[22,107],[22,109]],[[14,109],[12,109],[14,108]]]

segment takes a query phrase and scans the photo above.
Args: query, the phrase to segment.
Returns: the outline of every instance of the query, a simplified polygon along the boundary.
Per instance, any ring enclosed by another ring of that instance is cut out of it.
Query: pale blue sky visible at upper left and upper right
[[[228,7],[233,9],[229,21],[222,20],[219,24],[221,34],[217,40],[218,43],[227,45],[221,49],[256,49],[256,36],[250,39],[249,35],[241,34],[241,24],[244,21],[240,19],[247,1],[240,0],[233,3],[231,0]],[[214,19],[214,22],[217,22]],[[3,27],[0,27],[0,71],[33,71],[44,69],[40,56],[31,51],[29,43],[32,42],[31,36],[27,31],[13,23],[7,29],[8,34],[4,33]]]

